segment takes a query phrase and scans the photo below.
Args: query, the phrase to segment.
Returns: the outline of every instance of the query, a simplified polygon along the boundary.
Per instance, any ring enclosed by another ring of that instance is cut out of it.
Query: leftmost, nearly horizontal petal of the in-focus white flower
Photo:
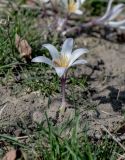
[[[44,56],[38,56],[32,59],[31,62],[41,62],[41,63],[46,63],[50,66],[52,66],[52,61],[49,58],[46,58]]]

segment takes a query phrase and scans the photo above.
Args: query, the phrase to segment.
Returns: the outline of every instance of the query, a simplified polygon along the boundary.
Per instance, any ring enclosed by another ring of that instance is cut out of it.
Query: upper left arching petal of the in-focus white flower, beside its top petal
[[[52,44],[44,44],[43,47],[49,50],[52,59],[58,58],[59,53],[55,46],[53,46]]]

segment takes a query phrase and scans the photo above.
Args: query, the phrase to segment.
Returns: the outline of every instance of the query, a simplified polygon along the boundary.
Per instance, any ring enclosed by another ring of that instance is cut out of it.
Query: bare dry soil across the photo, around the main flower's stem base
[[[57,113],[60,106],[59,95],[51,99],[43,98],[39,92],[11,95],[11,90],[0,86],[0,109],[6,105],[1,115],[1,127],[4,124],[13,124],[18,119],[30,117],[35,111],[39,111],[45,120],[45,112],[54,123],[72,118],[77,107],[80,107],[80,124],[89,122],[89,134],[97,132],[101,135],[101,125],[106,126],[111,132],[116,130],[124,122],[125,110],[125,46],[104,39],[80,36],[76,38],[77,47],[86,47],[90,53],[86,55],[88,64],[76,67],[74,76],[86,75],[88,89],[87,94],[78,88],[75,99],[76,107],[67,105],[64,117],[58,119]],[[67,87],[68,88],[68,87]],[[67,89],[68,90],[68,89]],[[87,100],[85,100],[85,95]],[[78,103],[79,105],[77,105]]]

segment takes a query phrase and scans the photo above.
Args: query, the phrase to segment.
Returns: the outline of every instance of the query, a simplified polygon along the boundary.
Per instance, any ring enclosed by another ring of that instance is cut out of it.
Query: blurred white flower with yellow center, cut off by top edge
[[[81,15],[83,12],[80,10],[80,6],[85,0],[62,0],[68,13],[75,13]]]

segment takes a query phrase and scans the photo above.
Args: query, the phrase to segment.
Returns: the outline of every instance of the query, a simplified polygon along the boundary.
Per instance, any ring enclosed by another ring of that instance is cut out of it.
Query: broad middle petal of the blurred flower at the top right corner
[[[108,20],[115,19],[123,11],[124,8],[125,8],[124,4],[118,4],[115,7],[113,7],[113,9],[111,10],[111,13],[109,15],[110,17]]]

